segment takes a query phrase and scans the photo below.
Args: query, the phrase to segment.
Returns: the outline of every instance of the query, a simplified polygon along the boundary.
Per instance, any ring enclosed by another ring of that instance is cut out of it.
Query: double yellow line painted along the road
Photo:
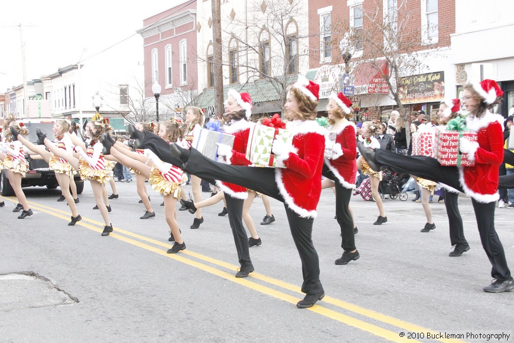
[[[13,203],[16,203],[15,198],[13,198],[13,197],[6,197],[5,199],[9,200]],[[51,207],[48,207],[45,205],[37,204],[34,202],[28,202],[28,203],[31,205],[31,208],[33,210],[38,210],[38,211],[50,214],[52,216],[55,216],[57,218],[61,218],[66,221],[70,220],[71,214],[69,212],[61,211],[61,210],[54,209],[54,208],[51,208]],[[103,226],[104,226],[103,223],[100,223],[100,222],[97,222],[95,220],[91,220],[88,218],[84,218],[84,217],[80,222],[77,222],[77,224],[75,224],[75,225],[76,226],[80,225],[82,227],[85,227],[85,228],[88,228],[90,230],[94,230],[97,232],[102,232]],[[287,293],[274,290],[273,288],[261,285],[259,283],[255,283],[255,282],[251,281],[251,279],[255,278],[255,279],[261,280],[263,282],[266,282],[268,284],[283,288],[284,290],[299,293],[303,297],[301,288],[298,286],[295,286],[293,284],[290,284],[290,283],[287,283],[287,282],[284,282],[284,281],[281,281],[278,279],[274,279],[274,278],[271,278],[271,277],[268,277],[268,276],[265,276],[265,275],[262,275],[259,273],[252,273],[250,275],[250,277],[248,277],[248,278],[235,278],[233,276],[233,274],[229,274],[227,272],[224,272],[223,270],[211,267],[211,266],[201,263],[201,262],[197,262],[197,261],[192,260],[187,257],[192,257],[192,258],[195,258],[200,261],[205,261],[205,262],[208,262],[208,263],[211,263],[214,265],[218,265],[223,268],[227,268],[227,269],[231,270],[232,272],[237,269],[237,266],[235,266],[233,264],[230,264],[230,263],[227,263],[227,262],[224,262],[221,260],[217,260],[217,259],[205,256],[205,255],[201,255],[201,254],[198,254],[191,250],[183,250],[179,254],[167,254],[166,250],[157,248],[154,245],[157,245],[157,246],[160,246],[163,248],[171,248],[170,244],[162,243],[160,241],[157,241],[157,240],[145,237],[145,236],[141,236],[140,234],[133,233],[131,231],[126,231],[126,230],[120,229],[118,227],[115,227],[114,229],[115,229],[114,232],[112,232],[109,235],[109,237],[118,239],[118,240],[126,242],[128,244],[132,244],[137,247],[155,252],[156,254],[159,254],[161,256],[171,258],[178,262],[181,262],[181,263],[193,266],[195,268],[204,270],[205,272],[222,277],[228,281],[246,286],[248,288],[251,288],[252,290],[261,292],[261,293],[269,295],[271,297],[289,302],[291,304],[296,304],[299,300],[298,297],[294,297]],[[122,234],[120,234],[120,233],[122,233],[125,236],[122,236]],[[126,237],[126,236],[128,236],[128,237]],[[130,238],[130,237],[132,237],[132,238]],[[137,241],[136,239],[139,241]],[[151,243],[153,245],[146,244],[141,241],[146,242],[146,243]],[[385,324],[389,324],[389,325],[397,327],[401,330],[399,330],[398,332],[394,332],[391,330],[383,329],[383,328],[378,327],[369,322],[366,322],[366,321],[363,321],[360,319],[356,319],[354,317],[351,317],[351,316],[339,313],[337,311],[325,308],[323,306],[323,303],[328,303],[328,304],[337,306],[338,308],[354,312],[356,314],[368,317],[373,320],[383,322]],[[390,317],[390,316],[387,316],[387,315],[384,315],[384,314],[381,314],[381,313],[378,313],[378,312],[375,312],[372,310],[364,309],[360,306],[357,306],[357,305],[354,305],[354,304],[351,304],[351,303],[348,303],[348,302],[345,302],[345,301],[342,301],[342,300],[339,300],[336,298],[332,298],[329,296],[325,296],[321,302],[318,302],[318,304],[314,305],[312,308],[309,308],[307,310],[315,312],[322,316],[337,320],[341,323],[347,324],[347,325],[355,327],[357,329],[369,332],[373,335],[377,335],[377,336],[386,338],[386,339],[394,341],[394,342],[419,342],[417,340],[407,338],[408,332],[425,333],[425,334],[427,334],[427,333],[438,334],[439,333],[438,331],[426,329],[426,328],[417,326],[416,324],[412,324],[407,321],[403,321],[401,319],[393,318],[393,317]],[[405,333],[405,335],[401,336],[400,335],[401,332]],[[445,343],[446,342],[462,342],[462,340],[454,340],[454,339],[437,339],[437,340],[439,340],[441,342],[445,342]]]

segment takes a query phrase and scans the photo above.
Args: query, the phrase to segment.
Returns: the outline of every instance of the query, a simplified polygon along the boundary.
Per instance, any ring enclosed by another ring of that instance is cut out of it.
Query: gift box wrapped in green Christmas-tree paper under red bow
[[[285,168],[285,165],[271,153],[273,139],[281,139],[292,145],[292,133],[286,129],[277,129],[266,125],[250,128],[246,158],[258,166]]]

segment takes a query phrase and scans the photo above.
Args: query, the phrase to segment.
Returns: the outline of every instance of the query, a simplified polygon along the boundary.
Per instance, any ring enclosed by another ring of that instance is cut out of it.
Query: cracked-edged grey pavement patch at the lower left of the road
[[[50,280],[32,272],[0,275],[0,312],[78,303]]]

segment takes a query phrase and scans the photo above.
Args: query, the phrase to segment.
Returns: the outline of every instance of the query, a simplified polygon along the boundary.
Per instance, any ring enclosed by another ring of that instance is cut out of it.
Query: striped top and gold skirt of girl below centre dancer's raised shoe
[[[171,142],[168,141],[168,144]],[[173,197],[179,199],[180,184],[183,182],[182,169],[162,161],[158,166],[154,164],[150,169],[150,186],[162,195],[172,194]]]

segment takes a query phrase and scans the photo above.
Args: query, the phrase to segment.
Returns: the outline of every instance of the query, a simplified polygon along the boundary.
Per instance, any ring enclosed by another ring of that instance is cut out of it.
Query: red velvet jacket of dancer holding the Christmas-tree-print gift
[[[287,129],[293,132],[293,147],[281,154],[286,168],[275,169],[275,180],[290,209],[301,217],[316,218],[326,130],[315,120],[295,120]]]

